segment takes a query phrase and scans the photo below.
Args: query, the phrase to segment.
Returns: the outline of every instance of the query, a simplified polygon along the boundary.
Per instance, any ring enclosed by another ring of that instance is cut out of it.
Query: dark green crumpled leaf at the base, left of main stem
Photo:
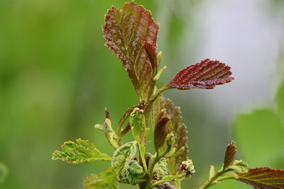
[[[136,185],[138,183],[145,182],[146,173],[143,170],[143,167],[136,160],[131,160],[126,172],[120,174],[118,180],[119,183]]]

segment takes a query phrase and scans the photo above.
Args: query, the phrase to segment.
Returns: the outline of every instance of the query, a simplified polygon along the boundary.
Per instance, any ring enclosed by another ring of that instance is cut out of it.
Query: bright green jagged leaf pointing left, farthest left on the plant
[[[71,164],[86,163],[89,161],[105,160],[111,161],[111,157],[101,153],[92,142],[77,139],[76,142],[64,142],[62,151],[53,151],[53,160],[67,161]]]

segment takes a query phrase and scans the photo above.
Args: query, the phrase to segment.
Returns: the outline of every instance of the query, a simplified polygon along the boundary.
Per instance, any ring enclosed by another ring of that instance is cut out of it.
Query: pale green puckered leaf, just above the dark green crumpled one
[[[117,173],[124,174],[129,163],[136,156],[136,141],[128,142],[114,151],[111,167],[117,170]]]

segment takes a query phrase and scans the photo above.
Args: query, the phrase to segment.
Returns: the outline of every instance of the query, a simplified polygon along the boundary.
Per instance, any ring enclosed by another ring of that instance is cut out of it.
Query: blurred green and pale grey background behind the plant
[[[0,162],[9,168],[0,188],[82,188],[86,176],[109,166],[51,161],[51,154],[80,137],[111,155],[94,124],[104,122],[106,107],[116,124],[138,103],[102,36],[107,8],[124,2],[0,1]],[[284,168],[283,0],[136,2],[160,23],[168,69],[158,86],[207,57],[229,64],[236,78],[214,90],[165,91],[182,108],[197,170],[183,188],[198,188],[209,165],[221,167],[233,139],[251,167]],[[224,181],[212,188],[249,187]]]

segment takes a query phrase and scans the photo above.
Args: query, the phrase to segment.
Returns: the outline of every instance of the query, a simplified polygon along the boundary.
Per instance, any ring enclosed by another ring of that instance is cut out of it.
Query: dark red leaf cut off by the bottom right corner
[[[269,167],[250,168],[248,173],[239,174],[238,181],[256,189],[284,188],[284,171]]]

